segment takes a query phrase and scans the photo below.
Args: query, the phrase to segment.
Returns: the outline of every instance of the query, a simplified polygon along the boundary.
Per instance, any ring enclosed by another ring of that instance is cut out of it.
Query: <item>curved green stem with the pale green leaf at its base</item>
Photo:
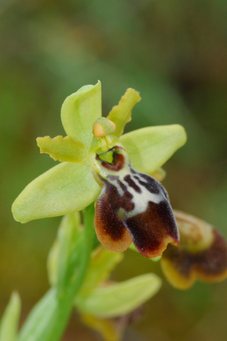
[[[94,205],[87,207],[83,211],[83,216],[84,248],[77,275],[65,288],[62,296],[58,295],[57,288],[50,288],[28,315],[19,333],[18,341],[58,341],[62,337],[74,306],[74,298],[82,286],[89,266],[94,242]]]

